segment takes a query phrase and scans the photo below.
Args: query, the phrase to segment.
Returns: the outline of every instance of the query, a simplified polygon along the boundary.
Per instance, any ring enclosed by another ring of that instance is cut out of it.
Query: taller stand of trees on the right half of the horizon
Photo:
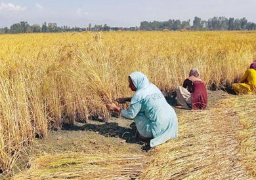
[[[246,18],[225,18],[213,17],[209,20],[201,20],[199,17],[195,17],[192,26],[190,25],[190,20],[168,20],[168,21],[153,21],[153,22],[141,22],[140,29],[146,31],[159,31],[163,29],[169,30],[255,30],[256,24],[253,22],[248,22]]]

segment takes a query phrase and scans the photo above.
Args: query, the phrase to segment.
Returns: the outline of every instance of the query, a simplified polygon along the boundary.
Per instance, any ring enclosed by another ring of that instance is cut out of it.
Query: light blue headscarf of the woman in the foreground
[[[129,75],[131,81],[136,87],[135,95],[131,99],[131,105],[139,102],[150,94],[161,93],[160,90],[148,81],[146,75],[140,72],[134,72]]]

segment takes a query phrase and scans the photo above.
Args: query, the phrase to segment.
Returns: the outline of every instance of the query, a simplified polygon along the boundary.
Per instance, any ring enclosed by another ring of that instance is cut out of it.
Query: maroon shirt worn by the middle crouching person
[[[183,87],[188,88],[192,98],[192,109],[206,109],[207,107],[207,90],[203,81],[192,81],[186,79]]]

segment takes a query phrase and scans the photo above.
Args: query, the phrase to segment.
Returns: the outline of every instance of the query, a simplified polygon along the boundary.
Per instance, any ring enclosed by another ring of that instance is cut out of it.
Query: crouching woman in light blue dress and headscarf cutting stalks
[[[125,118],[135,121],[142,137],[150,140],[150,147],[161,145],[178,135],[178,118],[174,109],[167,103],[161,91],[148,81],[146,75],[134,72],[129,75],[129,87],[135,91],[133,98],[120,98],[117,102],[131,101],[127,110],[108,105]]]

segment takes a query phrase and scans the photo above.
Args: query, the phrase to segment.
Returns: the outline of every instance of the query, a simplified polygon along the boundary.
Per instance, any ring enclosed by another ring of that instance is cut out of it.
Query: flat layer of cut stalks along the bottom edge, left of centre
[[[46,155],[14,179],[133,179],[139,177],[143,162],[144,155],[133,154]]]

